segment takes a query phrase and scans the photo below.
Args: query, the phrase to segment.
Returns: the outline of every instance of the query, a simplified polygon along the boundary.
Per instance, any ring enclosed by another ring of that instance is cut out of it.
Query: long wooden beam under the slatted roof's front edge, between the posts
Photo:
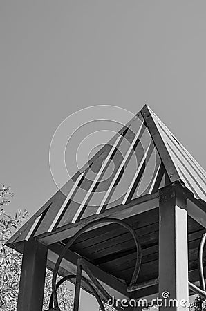
[[[134,216],[137,214],[141,214],[144,211],[148,211],[151,209],[155,209],[159,206],[158,202],[158,193],[145,195],[141,198],[137,198],[131,201],[128,205],[119,205],[117,207],[113,207],[109,210],[106,210],[103,214],[100,215],[93,215],[89,218],[85,218],[79,221],[76,224],[68,224],[63,227],[59,227],[56,229],[55,232],[52,233],[45,233],[41,236],[38,236],[39,241],[45,245],[53,244],[55,242],[63,241],[65,238],[69,238],[73,236],[80,228],[84,227],[87,223],[90,223],[93,220],[106,218],[106,217],[113,217],[118,219],[128,218],[129,216]],[[106,224],[101,223],[94,226],[91,229],[95,229],[97,227],[102,227]]]

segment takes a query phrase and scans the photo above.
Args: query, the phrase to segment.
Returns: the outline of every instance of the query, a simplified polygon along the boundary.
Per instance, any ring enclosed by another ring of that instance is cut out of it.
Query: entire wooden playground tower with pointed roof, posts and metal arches
[[[144,106],[8,241],[23,254],[17,311],[42,310],[46,267],[49,310],[60,310],[66,280],[75,283],[75,311],[80,287],[101,310],[113,296],[117,310],[158,297],[161,310],[188,309],[180,301],[189,294],[206,298],[205,228],[206,173]]]

